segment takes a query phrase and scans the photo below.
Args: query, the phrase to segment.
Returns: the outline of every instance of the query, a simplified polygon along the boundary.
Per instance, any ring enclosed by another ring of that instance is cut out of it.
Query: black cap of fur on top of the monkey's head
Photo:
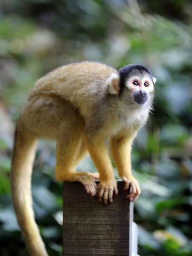
[[[125,81],[135,75],[142,76],[147,73],[153,82],[153,76],[151,74],[151,71],[147,67],[140,64],[127,65],[120,68],[117,72],[120,76],[120,92],[125,88]]]

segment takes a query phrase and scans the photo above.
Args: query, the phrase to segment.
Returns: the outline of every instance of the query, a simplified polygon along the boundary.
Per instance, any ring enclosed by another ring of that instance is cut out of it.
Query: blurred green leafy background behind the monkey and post
[[[192,255],[192,2],[0,1],[0,255],[26,256],[10,195],[15,122],[35,80],[72,61],[130,63],[157,77],[154,111],[135,140],[134,204],[141,256]],[[36,221],[50,256],[61,255],[62,184],[54,143],[38,145]],[[87,158],[78,168],[94,171]]]

